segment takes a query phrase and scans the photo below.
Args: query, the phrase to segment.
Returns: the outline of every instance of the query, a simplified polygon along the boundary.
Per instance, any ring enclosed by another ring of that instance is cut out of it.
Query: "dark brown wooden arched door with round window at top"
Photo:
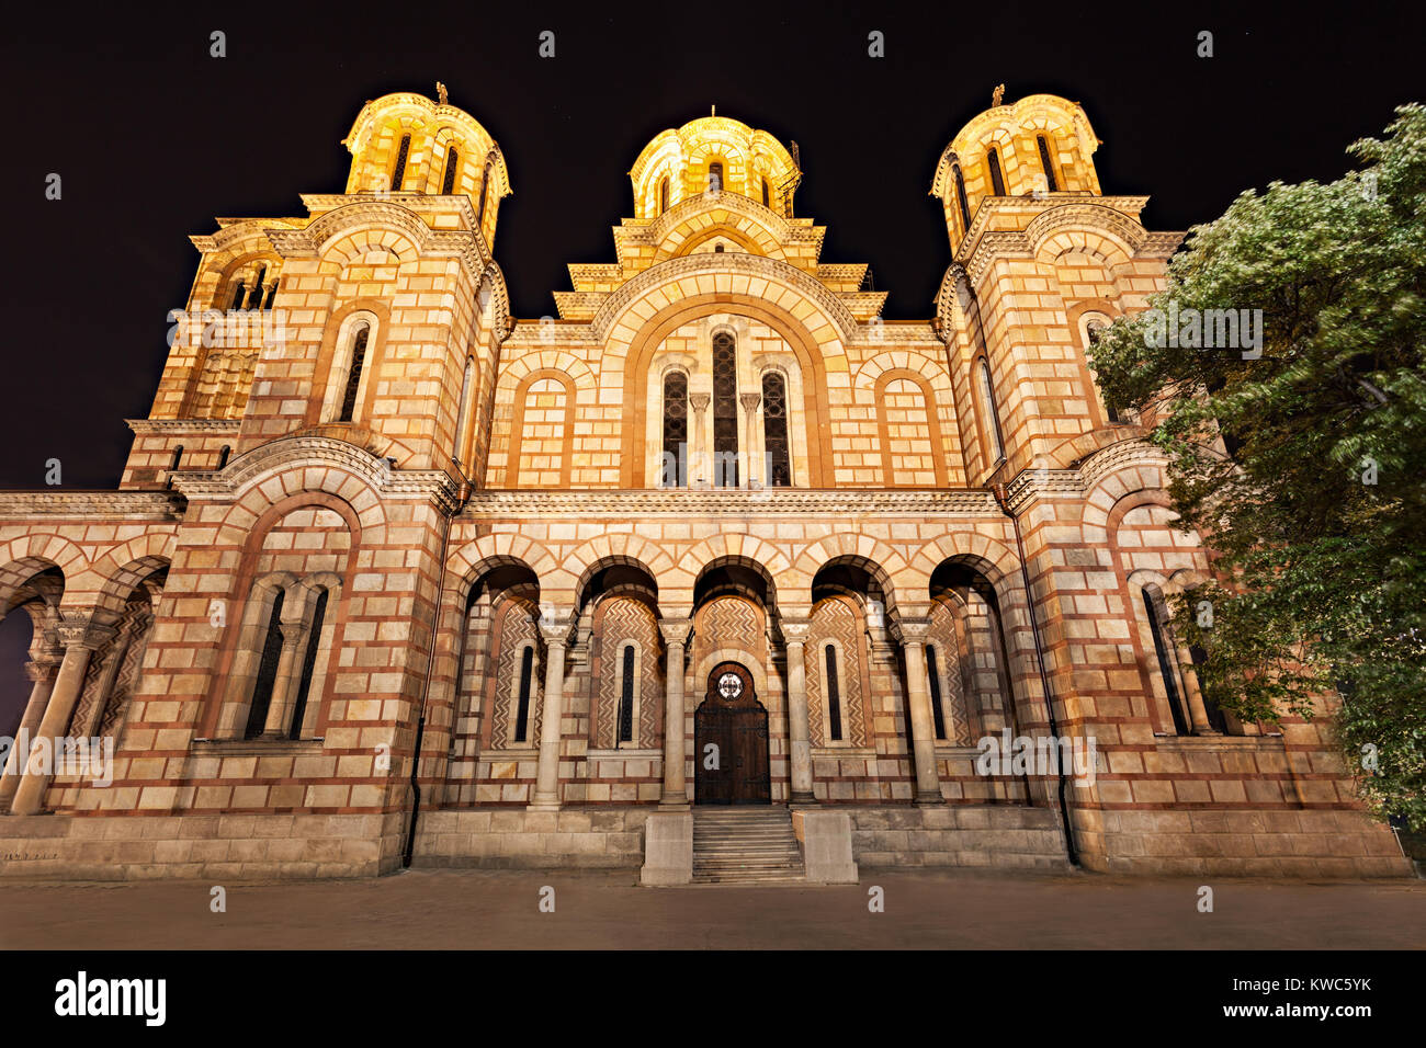
[[[693,711],[693,739],[696,804],[771,804],[767,709],[744,666],[713,667],[703,703]]]

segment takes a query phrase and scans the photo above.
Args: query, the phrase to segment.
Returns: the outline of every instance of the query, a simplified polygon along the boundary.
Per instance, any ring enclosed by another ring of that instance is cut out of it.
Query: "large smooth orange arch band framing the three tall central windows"
[[[752,295],[719,292],[694,295],[693,298],[670,302],[653,317],[643,321],[637,334],[630,341],[629,352],[623,361],[620,485],[623,488],[645,488],[647,482],[645,476],[646,456],[639,452],[647,423],[647,405],[639,391],[646,385],[653,354],[673,331],[677,331],[690,321],[716,312],[733,312],[761,321],[777,331],[791,348],[803,374],[803,418],[807,433],[811,438],[807,448],[811,486],[834,486],[831,429],[830,425],[824,423],[824,419],[830,422],[831,412],[821,345],[813,332],[809,332],[781,305],[774,305],[769,299]],[[617,365],[617,361],[610,361],[610,364]]]

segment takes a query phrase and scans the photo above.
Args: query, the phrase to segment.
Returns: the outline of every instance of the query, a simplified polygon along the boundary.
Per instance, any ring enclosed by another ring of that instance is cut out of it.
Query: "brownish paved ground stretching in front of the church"
[[[636,873],[0,885],[0,948],[1423,948],[1426,883],[863,871],[860,887],[640,888]],[[555,913],[540,913],[540,888]],[[868,890],[886,911],[868,913]]]

